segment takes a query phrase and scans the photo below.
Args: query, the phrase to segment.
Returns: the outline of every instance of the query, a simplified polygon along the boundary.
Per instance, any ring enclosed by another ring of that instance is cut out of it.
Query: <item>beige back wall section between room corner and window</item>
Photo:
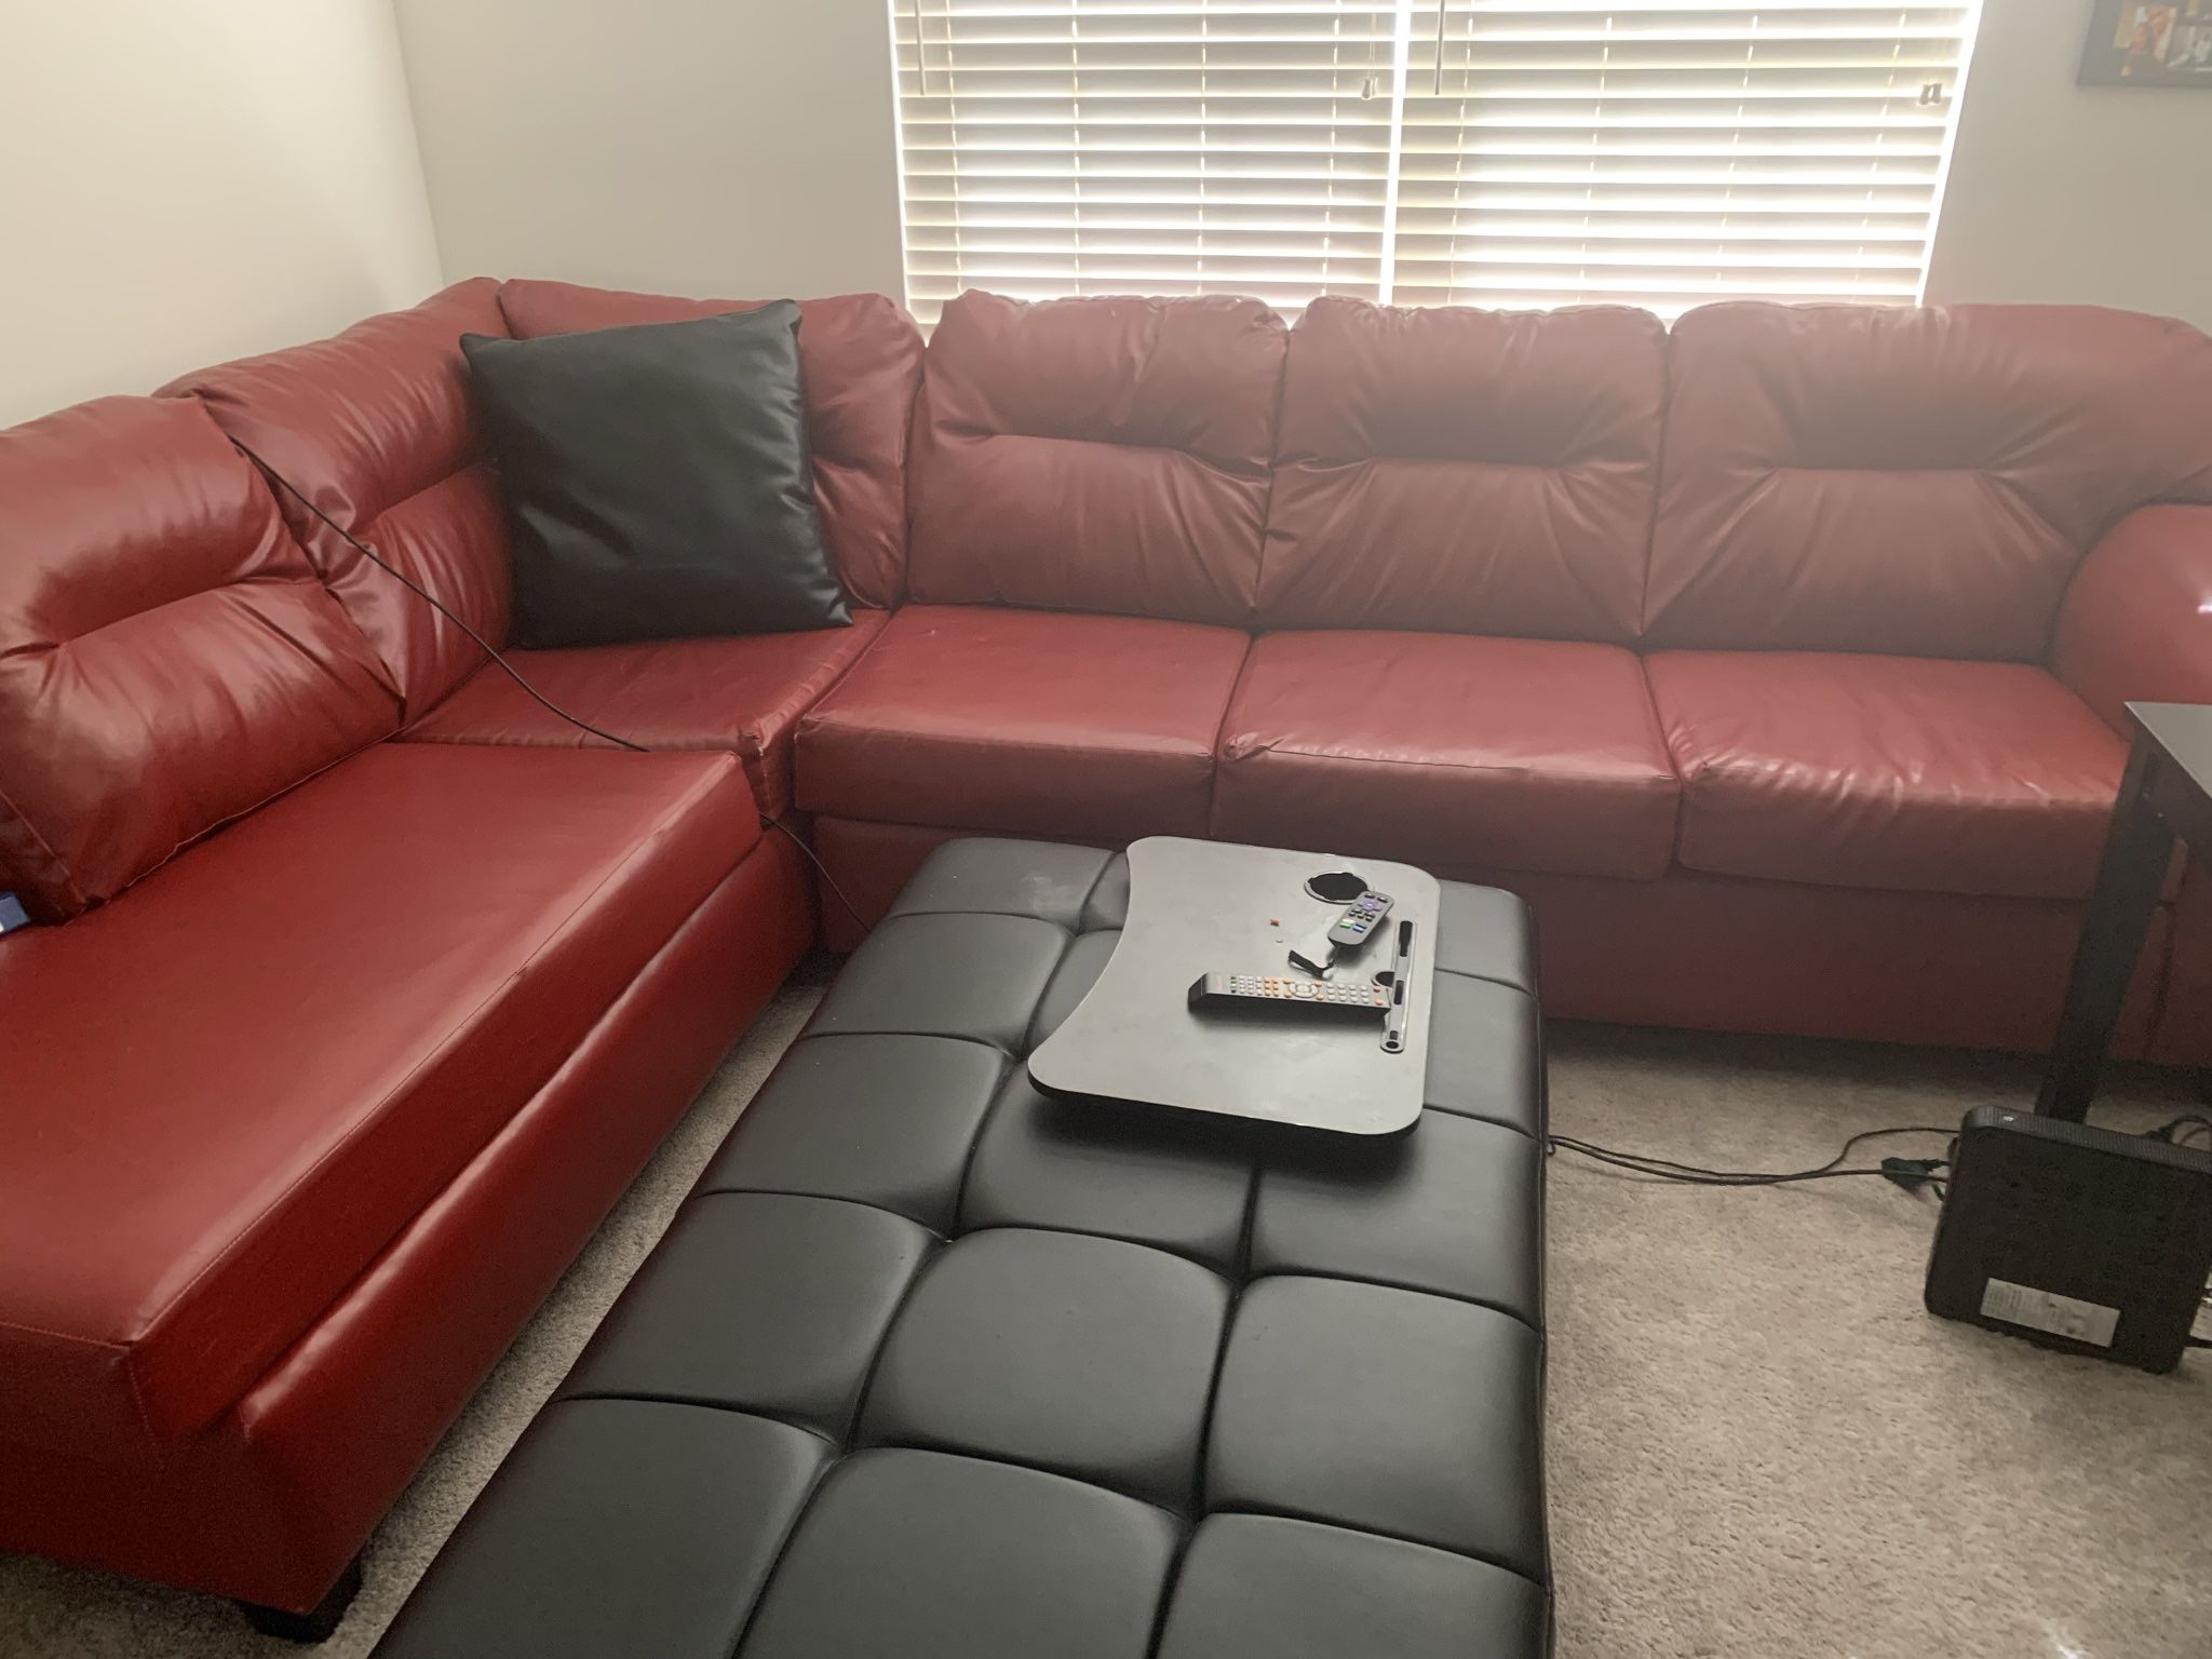
[[[900,294],[885,0],[396,0],[453,276]]]

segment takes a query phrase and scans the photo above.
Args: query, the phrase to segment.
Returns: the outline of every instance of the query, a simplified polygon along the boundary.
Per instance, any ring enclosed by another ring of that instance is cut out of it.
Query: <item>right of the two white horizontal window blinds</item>
[[[1407,84],[1394,301],[1909,303],[1971,22],[1896,0],[1449,4],[1442,66],[1431,35]]]

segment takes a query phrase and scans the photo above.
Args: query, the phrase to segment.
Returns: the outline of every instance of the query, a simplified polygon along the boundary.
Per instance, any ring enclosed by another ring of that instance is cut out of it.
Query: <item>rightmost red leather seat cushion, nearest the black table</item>
[[[2026,664],[1820,653],[1646,661],[1690,869],[2079,898],[2126,743]]]

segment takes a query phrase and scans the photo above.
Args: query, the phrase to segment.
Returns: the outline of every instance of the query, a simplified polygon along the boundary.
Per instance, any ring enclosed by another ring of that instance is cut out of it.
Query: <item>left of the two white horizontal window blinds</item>
[[[896,0],[909,305],[1376,299],[1396,11]]]

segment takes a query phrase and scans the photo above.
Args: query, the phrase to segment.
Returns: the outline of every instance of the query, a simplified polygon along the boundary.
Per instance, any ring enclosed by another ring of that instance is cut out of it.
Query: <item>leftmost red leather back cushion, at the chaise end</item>
[[[0,431],[0,887],[38,916],[394,730],[383,666],[206,409]]]

